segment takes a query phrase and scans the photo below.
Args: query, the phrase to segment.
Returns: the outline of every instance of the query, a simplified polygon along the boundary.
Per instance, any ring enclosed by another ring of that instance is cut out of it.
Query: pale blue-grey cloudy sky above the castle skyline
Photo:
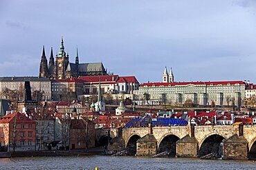
[[[0,76],[38,76],[46,57],[102,62],[108,72],[161,82],[256,83],[255,0],[0,0]]]

